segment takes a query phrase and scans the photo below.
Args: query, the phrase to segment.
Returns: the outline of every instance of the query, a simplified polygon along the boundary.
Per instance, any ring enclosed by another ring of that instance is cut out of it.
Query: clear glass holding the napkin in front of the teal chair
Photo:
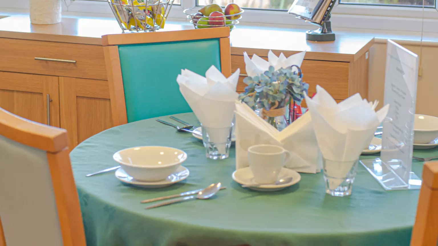
[[[205,147],[205,156],[217,160],[228,158],[230,154],[233,123],[230,127],[213,128],[202,126],[202,142]]]

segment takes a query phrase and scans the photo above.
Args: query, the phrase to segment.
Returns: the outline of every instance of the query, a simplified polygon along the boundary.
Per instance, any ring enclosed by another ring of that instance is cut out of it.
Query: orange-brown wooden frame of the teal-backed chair
[[[219,39],[221,71],[226,76],[231,75],[230,28],[204,28],[195,30],[124,33],[102,36],[103,52],[105,54],[106,74],[108,75],[109,98],[113,126],[127,123],[125,94],[123,88],[122,70],[118,45],[141,44],[155,42],[173,42],[199,39]],[[176,79],[176,78],[175,78]],[[176,83],[176,82],[175,82]]]

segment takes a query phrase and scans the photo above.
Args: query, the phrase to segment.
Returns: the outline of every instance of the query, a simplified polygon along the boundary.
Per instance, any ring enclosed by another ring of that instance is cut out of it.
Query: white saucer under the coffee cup
[[[293,171],[292,169],[282,168],[279,174],[279,179],[286,179],[292,177],[292,181],[289,183],[281,184],[281,185],[261,185],[257,187],[248,187],[252,190],[260,190],[260,191],[276,191],[283,190],[286,187],[292,186],[298,182],[300,182],[301,175],[298,172]],[[242,168],[233,172],[233,179],[237,183],[241,185],[251,185],[255,183],[254,175],[251,172],[250,167]]]

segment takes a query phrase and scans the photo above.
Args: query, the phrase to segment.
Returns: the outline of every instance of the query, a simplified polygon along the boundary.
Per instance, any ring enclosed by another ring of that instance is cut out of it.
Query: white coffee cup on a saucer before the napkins
[[[290,158],[290,152],[270,144],[254,145],[248,148],[248,163],[259,184],[275,183],[282,167]]]

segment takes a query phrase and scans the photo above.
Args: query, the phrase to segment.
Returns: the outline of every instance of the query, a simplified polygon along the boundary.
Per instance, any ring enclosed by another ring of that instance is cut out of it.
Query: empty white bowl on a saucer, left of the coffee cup
[[[187,154],[176,148],[141,146],[117,151],[113,159],[134,179],[153,182],[175,172]]]

